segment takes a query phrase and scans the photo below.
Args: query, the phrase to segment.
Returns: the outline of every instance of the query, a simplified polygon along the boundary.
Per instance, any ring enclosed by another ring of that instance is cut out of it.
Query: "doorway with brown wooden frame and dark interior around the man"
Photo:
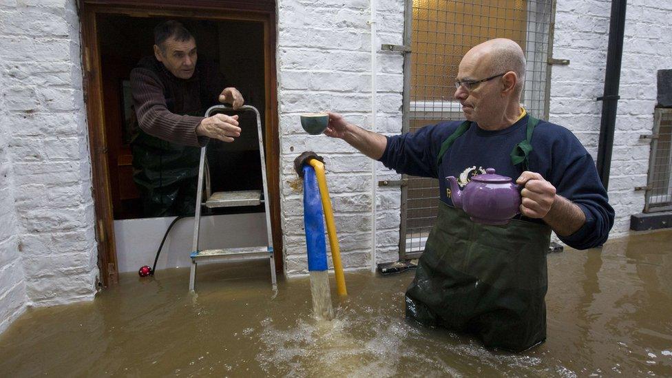
[[[138,192],[129,178],[132,156],[125,127],[129,111],[125,107],[124,81],[141,56],[152,54],[152,28],[165,19],[177,19],[188,25],[197,39],[199,59],[203,54],[216,61],[220,70],[246,97],[246,103],[261,112],[273,247],[275,251],[282,251],[280,147],[275,93],[275,2],[194,0],[187,4],[178,0],[84,0],[78,5],[96,207],[98,266],[103,286],[118,279],[114,219],[141,216],[135,206]],[[246,143],[241,143],[239,147],[244,145]],[[249,151],[246,153],[249,154]],[[258,154],[255,157],[242,160],[253,164],[258,161]],[[256,168],[246,165],[244,169],[255,171]],[[258,181],[258,176],[249,173],[242,176],[250,182],[238,180],[237,185],[253,185]],[[277,271],[282,271],[282,253],[275,254],[275,266]]]

